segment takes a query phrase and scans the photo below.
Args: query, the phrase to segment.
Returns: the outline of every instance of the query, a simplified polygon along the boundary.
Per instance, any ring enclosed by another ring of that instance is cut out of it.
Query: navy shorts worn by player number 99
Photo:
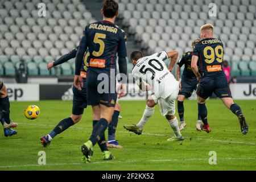
[[[197,86],[196,93],[199,97],[204,99],[212,96],[212,93],[216,94],[219,98],[232,98],[225,74],[217,77],[203,77]]]

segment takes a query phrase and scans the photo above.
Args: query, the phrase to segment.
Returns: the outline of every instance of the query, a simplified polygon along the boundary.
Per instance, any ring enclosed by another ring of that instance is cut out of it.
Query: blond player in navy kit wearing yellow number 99
[[[201,40],[194,48],[191,63],[191,68],[199,81],[196,93],[199,114],[204,123],[201,129],[207,133],[211,131],[207,121],[205,100],[214,92],[217,97],[221,98],[224,105],[237,115],[242,134],[245,135],[248,132],[245,117],[243,116],[241,107],[238,104],[234,104],[226,75],[222,71],[223,44],[220,39],[215,39],[213,36],[214,28],[212,24],[204,24],[200,28]],[[198,59],[200,59],[202,75],[200,75],[197,68]]]

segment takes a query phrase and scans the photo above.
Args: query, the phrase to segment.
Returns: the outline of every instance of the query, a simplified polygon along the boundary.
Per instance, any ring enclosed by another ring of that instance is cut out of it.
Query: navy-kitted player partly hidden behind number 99
[[[200,39],[196,39],[192,42],[192,48],[200,41]],[[196,80],[196,76],[191,69],[191,59],[192,59],[193,51],[185,52],[179,62],[177,63],[176,68],[176,79],[180,81],[180,68],[184,65],[184,71],[181,76],[180,82],[180,92],[177,99],[177,110],[180,117],[180,130],[183,130],[186,126],[184,121],[184,105],[183,102],[185,98],[191,97],[193,90],[196,90],[196,86],[198,81]],[[197,67],[199,64],[197,64]],[[201,118],[198,114],[197,122],[196,122],[196,129],[201,130]]]

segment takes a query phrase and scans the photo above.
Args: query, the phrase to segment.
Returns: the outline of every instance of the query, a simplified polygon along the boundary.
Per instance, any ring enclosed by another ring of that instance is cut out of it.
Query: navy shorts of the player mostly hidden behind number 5
[[[75,86],[73,86],[72,114],[80,115],[84,113],[84,108],[87,107],[86,98],[86,81],[84,81],[84,87],[82,88],[82,90],[78,90]]]

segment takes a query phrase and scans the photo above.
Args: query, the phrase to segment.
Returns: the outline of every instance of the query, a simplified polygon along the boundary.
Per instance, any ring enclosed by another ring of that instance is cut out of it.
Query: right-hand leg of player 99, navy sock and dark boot
[[[249,129],[245,117],[243,116],[241,107],[238,104],[234,104],[233,99],[231,97],[224,97],[221,98],[221,100],[225,104],[225,106],[232,111],[232,113],[237,115],[238,120],[240,122],[242,134],[246,135]]]

